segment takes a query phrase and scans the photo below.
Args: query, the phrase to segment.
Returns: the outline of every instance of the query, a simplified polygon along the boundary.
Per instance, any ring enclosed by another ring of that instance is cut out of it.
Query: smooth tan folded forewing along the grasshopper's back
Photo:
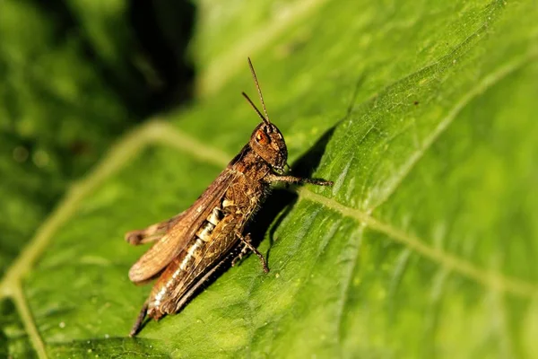
[[[221,198],[239,175],[240,172],[230,169],[222,171],[209,188],[205,189],[202,196],[181,215],[169,232],[162,236],[161,241],[156,242],[134,263],[129,270],[129,279],[134,283],[141,283],[168,266],[169,262],[185,249],[213,208],[221,205]]]

